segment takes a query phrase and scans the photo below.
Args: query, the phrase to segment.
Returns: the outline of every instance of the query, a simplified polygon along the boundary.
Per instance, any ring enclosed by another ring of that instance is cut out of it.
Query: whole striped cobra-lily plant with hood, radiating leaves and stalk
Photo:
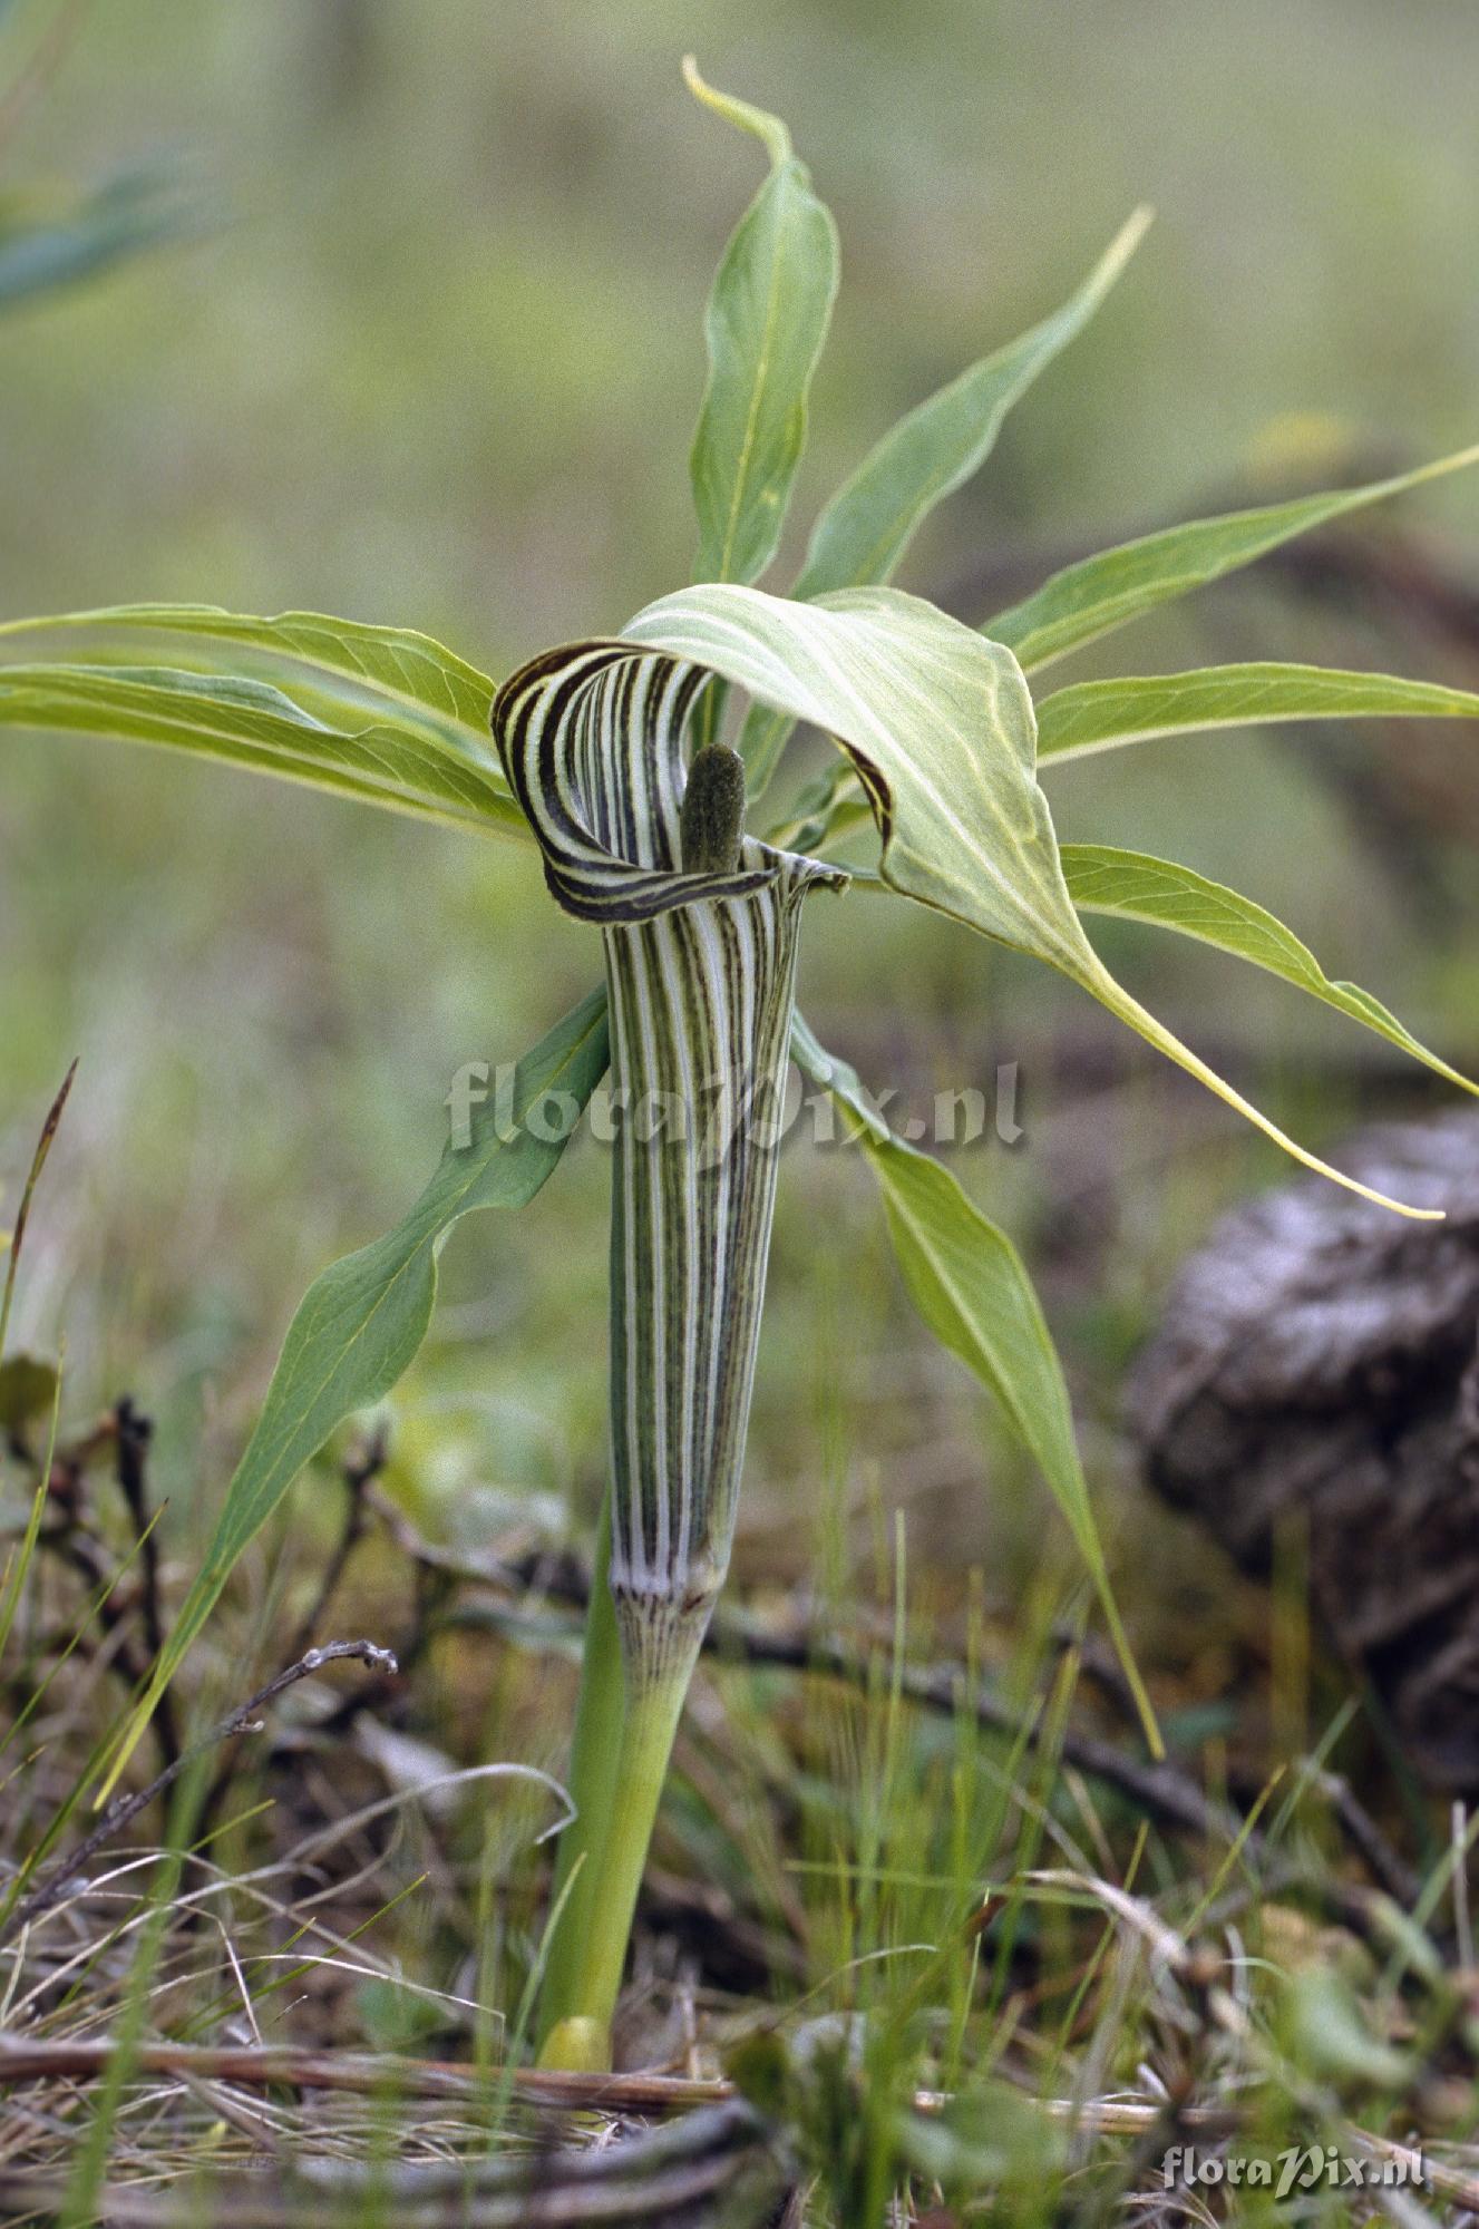
[[[474,1110],[470,1143],[448,1148],[405,1221],[303,1300],[109,1783],[256,1529],[334,1427],[410,1364],[452,1224],[474,1208],[526,1206],[552,1172],[572,1119],[552,1123],[550,1106],[575,1117],[610,1068],[628,1106],[657,1092],[704,1110],[702,1121],[628,1123],[613,1152],[610,1487],[570,1761],[577,1819],[561,1837],[541,2013],[543,2053],[564,2064],[599,2064],[610,2051],[668,1750],[724,1583],[789,1059],[849,1114],[909,1295],[1040,1464],[1134,1678],[1062,1373],[1022,1262],[953,1175],[889,1132],[795,1012],[804,916],[840,903],[849,883],[838,847],[851,856],[866,840],[858,872],[884,894],[1047,963],[1336,1184],[1350,1179],[1283,1137],[1114,979],[1085,916],[1201,938],[1463,1083],[1252,901],[1174,860],[1058,845],[1042,780],[1087,753],[1218,727],[1479,716],[1479,695],[1459,689],[1301,664],[1071,687],[1047,678],[1058,658],[1140,613],[1479,450],[1147,535],[1071,564],[978,629],[891,588],[915,528],[987,459],[1005,412],[1111,288],[1145,227],[1138,214],[1060,310],[878,441],[815,522],[789,593],[760,588],[802,455],[838,245],[786,129],[695,71],[690,85],[768,154],[708,303],[695,586],[615,637],[546,651],[501,687],[419,633],[207,606],[13,624],[0,669],[11,727],[172,744],[474,836],[532,840],[552,903],[604,947],[604,985],[523,1057],[512,1112]],[[797,724],[831,738],[835,760],[786,794]],[[1140,1705],[1154,1743],[1143,1694]]]

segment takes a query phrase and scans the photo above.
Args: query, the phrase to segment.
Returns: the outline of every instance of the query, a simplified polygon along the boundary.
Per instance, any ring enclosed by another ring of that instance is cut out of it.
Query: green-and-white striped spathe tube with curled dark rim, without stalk
[[[706,671],[624,642],[537,658],[492,731],[550,892],[601,925],[613,1081],[610,1585],[628,1667],[697,1645],[724,1580],[755,1378],[802,898],[846,876],[740,845],[684,874]],[[662,1121],[646,1119],[664,1110]],[[682,1110],[682,1117],[677,1114]]]

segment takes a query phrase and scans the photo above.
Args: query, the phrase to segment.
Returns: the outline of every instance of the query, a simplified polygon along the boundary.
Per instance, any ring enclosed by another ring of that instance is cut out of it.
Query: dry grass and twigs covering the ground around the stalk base
[[[1426,2187],[1321,2182],[1281,2218],[1479,2211],[1463,1823],[1403,1910],[1408,1861],[1323,1759],[1256,1805],[1154,1768],[1062,1632],[1002,1663],[987,1618],[731,1614],[659,1834],[633,2071],[604,2084],[523,2064],[564,1810],[517,1759],[561,1723],[579,1567],[528,1527],[425,1542],[383,1449],[345,1464],[316,1567],[287,1536],[238,1589],[200,1678],[229,1701],[305,1618],[374,1607],[403,1670],[370,1643],[285,1663],[200,1748],[163,1734],[156,1788],[98,1828],[100,1736],[174,1583],[109,1478],[120,1438],[53,1451],[9,1638],[7,2222],[1225,2211],[1165,2189],[1172,2144],[1385,2169],[1421,2144]]]

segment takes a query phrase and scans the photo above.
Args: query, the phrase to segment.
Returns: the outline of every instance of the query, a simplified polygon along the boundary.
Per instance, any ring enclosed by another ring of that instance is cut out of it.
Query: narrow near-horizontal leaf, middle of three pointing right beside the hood
[[[1330,666],[1201,666],[1078,682],[1038,704],[1038,758],[1089,758],[1127,742],[1274,720],[1479,720],[1479,695],[1394,673]]]

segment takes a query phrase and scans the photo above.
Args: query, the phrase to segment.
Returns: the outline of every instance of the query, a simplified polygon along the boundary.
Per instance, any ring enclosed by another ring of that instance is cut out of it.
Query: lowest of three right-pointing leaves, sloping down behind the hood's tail
[[[1065,845],[1062,872],[1069,896],[1080,912],[1145,921],[1160,929],[1176,929],[1181,936],[1196,936],[1218,952],[1232,952],[1234,958],[1252,961],[1254,967],[1323,999],[1339,1014],[1350,1014],[1352,1021],[1385,1036],[1388,1043],[1461,1090],[1479,1092],[1477,1083],[1470,1083],[1437,1052],[1428,1052],[1410,1030],[1403,1030],[1397,1016],[1370,992],[1356,983],[1332,983],[1310,947],[1301,945],[1283,921],[1254,905],[1252,898],[1241,898],[1236,889],[1209,883],[1172,860],[1149,858],[1145,851],[1118,851],[1109,845]]]

